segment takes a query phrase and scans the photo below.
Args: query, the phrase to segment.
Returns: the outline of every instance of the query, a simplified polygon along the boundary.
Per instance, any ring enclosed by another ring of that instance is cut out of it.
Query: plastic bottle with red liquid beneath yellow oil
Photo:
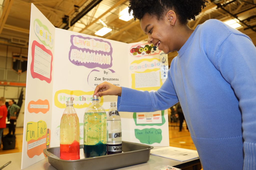
[[[60,159],[80,159],[79,120],[73,101],[67,101],[67,107],[60,120]]]

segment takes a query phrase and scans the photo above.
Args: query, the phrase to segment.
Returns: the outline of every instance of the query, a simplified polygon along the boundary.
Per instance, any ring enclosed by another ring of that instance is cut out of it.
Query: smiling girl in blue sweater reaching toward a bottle
[[[218,20],[195,30],[190,19],[205,0],[130,0],[152,43],[177,51],[156,92],[104,82],[94,95],[118,95],[118,110],[153,112],[180,102],[204,170],[256,169],[256,48],[247,35]]]

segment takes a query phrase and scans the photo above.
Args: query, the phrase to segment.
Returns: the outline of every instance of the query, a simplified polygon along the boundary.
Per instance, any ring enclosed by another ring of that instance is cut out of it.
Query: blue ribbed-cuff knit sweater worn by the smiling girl
[[[118,110],[180,102],[204,170],[256,169],[256,48],[218,20],[198,25],[156,92],[122,87]]]

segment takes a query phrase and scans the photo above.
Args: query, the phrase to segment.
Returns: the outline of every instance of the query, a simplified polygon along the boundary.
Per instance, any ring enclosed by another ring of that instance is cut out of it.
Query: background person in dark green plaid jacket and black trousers
[[[14,104],[14,100],[10,99],[8,102],[8,113],[10,114],[9,120],[10,120],[10,125],[9,125],[9,133],[8,135],[13,132],[13,135],[15,134],[15,127],[16,127],[16,120],[17,120],[17,112],[19,112],[20,107],[16,104]]]

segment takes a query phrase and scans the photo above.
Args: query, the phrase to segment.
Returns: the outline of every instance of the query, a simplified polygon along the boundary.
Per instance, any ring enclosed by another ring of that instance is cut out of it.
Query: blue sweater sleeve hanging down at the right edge
[[[239,100],[244,139],[243,169],[256,169],[256,48],[246,35],[231,33],[219,46],[215,62]]]

